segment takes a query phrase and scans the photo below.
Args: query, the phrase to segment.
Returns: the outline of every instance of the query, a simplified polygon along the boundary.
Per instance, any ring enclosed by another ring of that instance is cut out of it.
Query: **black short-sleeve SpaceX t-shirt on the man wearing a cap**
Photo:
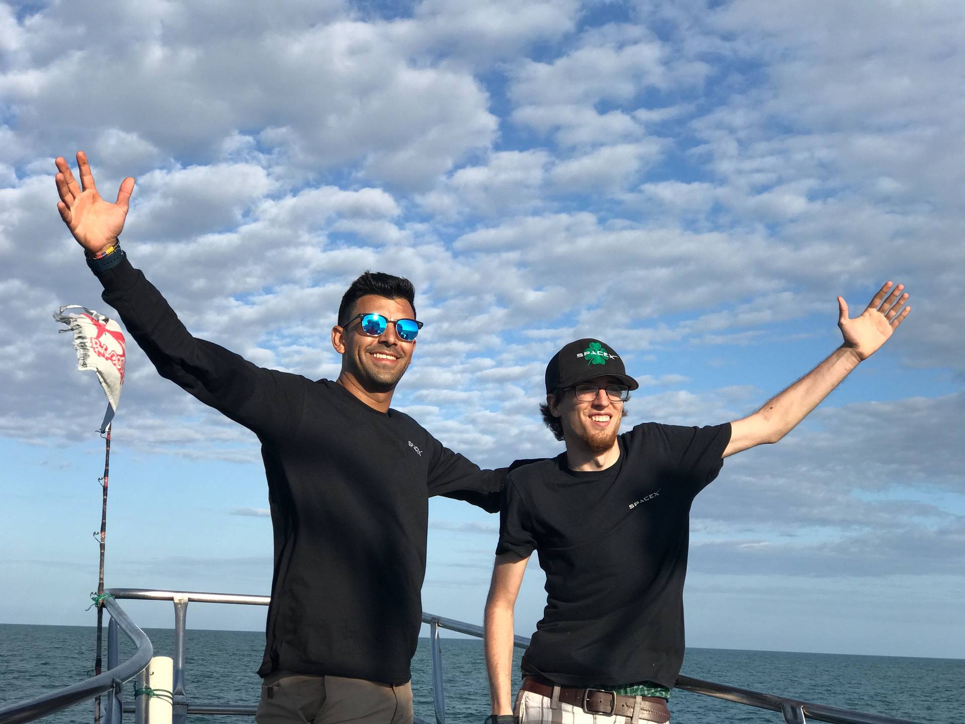
[[[690,506],[717,477],[731,425],[645,423],[620,459],[574,472],[565,454],[510,473],[497,555],[538,553],[546,608],[524,674],[567,686],[656,682],[683,662]]]

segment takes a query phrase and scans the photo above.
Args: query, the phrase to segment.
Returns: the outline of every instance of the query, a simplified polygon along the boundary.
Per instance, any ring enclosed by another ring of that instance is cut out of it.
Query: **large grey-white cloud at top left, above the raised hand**
[[[228,22],[217,7],[89,10],[81,24],[55,5],[21,26],[23,61],[0,74],[17,125],[47,148],[83,142],[65,108],[83,114],[88,132],[136,133],[165,156],[208,161],[225,139],[256,127],[293,178],[354,164],[417,187],[493,140],[496,120],[472,75],[411,62],[392,23],[307,6],[271,18],[232,11]],[[100,15],[107,42],[93,37]],[[54,36],[70,39],[56,54]],[[81,67],[82,86],[74,82]]]

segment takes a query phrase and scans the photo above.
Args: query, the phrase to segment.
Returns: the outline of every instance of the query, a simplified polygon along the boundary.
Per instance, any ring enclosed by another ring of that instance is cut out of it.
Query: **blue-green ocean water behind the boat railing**
[[[174,632],[146,629],[154,654],[171,655]],[[38,696],[93,674],[94,627],[0,625],[0,706]],[[106,639],[106,634],[105,634]],[[122,636],[121,656],[133,653]],[[264,636],[254,631],[188,629],[185,683],[189,701],[197,703],[258,703]],[[420,639],[412,662],[416,715],[434,722],[431,663],[427,639]],[[520,652],[516,652],[516,670]],[[476,639],[443,639],[446,720],[482,724],[488,713],[488,687],[483,643]],[[794,699],[851,710],[885,714],[929,724],[965,720],[965,660],[794,654],[788,652],[688,649],[683,664],[687,676]],[[518,682],[517,682],[518,683]],[[133,699],[133,684],[125,685]],[[677,690],[670,701],[674,724],[705,722],[779,723],[775,711],[756,710]],[[133,721],[133,714],[126,716]],[[239,716],[200,716],[198,724],[239,724]],[[85,703],[44,719],[57,724],[88,724],[93,704]]]

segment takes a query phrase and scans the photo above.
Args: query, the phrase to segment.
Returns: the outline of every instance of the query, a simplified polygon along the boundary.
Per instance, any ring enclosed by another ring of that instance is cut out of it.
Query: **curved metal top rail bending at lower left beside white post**
[[[128,618],[124,609],[113,599],[104,599],[103,605],[110,614],[112,621],[118,623],[118,627],[137,647],[134,655],[113,669],[104,671],[84,682],[73,683],[35,699],[17,702],[0,709],[0,724],[20,724],[20,722],[33,721],[41,718],[41,716],[72,707],[87,699],[93,699],[108,691],[117,691],[121,684],[133,679],[144,667],[151,663],[153,648],[147,634]]]

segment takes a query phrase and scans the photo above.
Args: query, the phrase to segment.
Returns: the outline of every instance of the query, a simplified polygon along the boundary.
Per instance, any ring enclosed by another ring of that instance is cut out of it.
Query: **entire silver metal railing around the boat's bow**
[[[151,661],[151,642],[144,631],[134,626],[127,618],[124,610],[117,604],[116,599],[139,600],[170,600],[175,605],[175,651],[174,678],[172,684],[173,724],[187,724],[187,715],[191,714],[236,714],[254,716],[256,707],[239,706],[233,704],[197,704],[189,702],[184,687],[184,631],[187,616],[187,604],[190,601],[204,603],[239,603],[242,605],[266,606],[270,602],[267,596],[242,596],[237,594],[208,594],[189,591],[155,591],[137,588],[115,588],[107,593],[113,599],[105,599],[104,605],[111,616],[107,628],[107,666],[103,674],[53,691],[44,696],[27,702],[14,704],[0,709],[0,724],[19,724],[41,718],[54,711],[65,709],[86,699],[92,699],[103,693],[108,693],[108,704],[104,708],[104,724],[121,724],[124,713],[133,712],[137,724],[146,721],[147,697],[140,697],[136,703],[124,705],[122,701],[121,684],[137,676],[140,672],[142,688],[145,682],[145,669]],[[439,640],[439,629],[464,633],[470,636],[483,637],[483,627],[467,624],[455,619],[447,619],[431,613],[423,613],[423,622],[429,625],[429,640],[432,659],[432,695],[435,709],[436,724],[445,724],[446,697],[442,682],[442,645]],[[118,663],[118,628],[137,646],[137,652],[124,663]],[[513,646],[525,649],[530,640],[525,636],[514,636]],[[828,722],[829,724],[916,724],[907,719],[896,719],[890,716],[869,714],[861,711],[851,711],[826,707],[822,704],[802,702],[774,694],[764,694],[759,691],[742,689],[723,683],[705,682],[680,676],[676,680],[676,688],[691,691],[696,694],[725,699],[736,704],[743,704],[758,709],[778,711],[784,717],[786,724],[806,724],[808,721]],[[482,719],[484,712],[481,712]],[[419,719],[416,719],[420,722]],[[420,722],[420,724],[425,724]]]

